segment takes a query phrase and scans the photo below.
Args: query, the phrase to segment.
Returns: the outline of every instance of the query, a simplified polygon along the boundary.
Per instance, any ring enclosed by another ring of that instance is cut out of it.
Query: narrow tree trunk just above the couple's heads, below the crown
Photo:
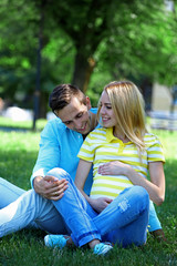
[[[72,83],[77,85],[84,93],[87,90],[94,66],[94,59],[81,53],[80,50],[77,50]]]

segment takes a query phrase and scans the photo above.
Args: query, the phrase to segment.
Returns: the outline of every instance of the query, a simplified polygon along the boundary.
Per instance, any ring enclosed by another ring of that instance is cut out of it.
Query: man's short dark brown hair
[[[86,96],[76,86],[72,84],[60,84],[56,85],[49,98],[49,106],[53,112],[62,110],[70,104],[73,96],[76,96],[81,103],[86,105]]]

